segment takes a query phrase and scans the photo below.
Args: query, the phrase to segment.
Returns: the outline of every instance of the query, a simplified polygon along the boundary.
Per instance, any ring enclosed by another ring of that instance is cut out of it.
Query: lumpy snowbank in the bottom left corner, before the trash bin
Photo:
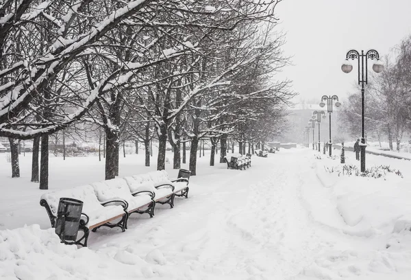
[[[165,276],[160,250],[139,256],[138,246],[109,252],[60,243],[54,229],[34,224],[0,231],[0,279],[138,279]]]

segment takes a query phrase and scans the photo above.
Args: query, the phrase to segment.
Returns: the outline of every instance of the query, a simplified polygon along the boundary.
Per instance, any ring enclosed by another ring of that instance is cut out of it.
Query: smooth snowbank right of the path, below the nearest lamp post
[[[366,237],[389,233],[399,218],[411,215],[410,181],[395,173],[386,173],[384,179],[338,176],[321,169],[321,163],[316,172],[325,187],[332,187],[336,209],[349,226],[343,228],[346,233]]]

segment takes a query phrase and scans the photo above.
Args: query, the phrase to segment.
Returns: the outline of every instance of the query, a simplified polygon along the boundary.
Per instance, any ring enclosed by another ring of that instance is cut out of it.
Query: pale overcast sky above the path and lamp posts
[[[278,28],[287,32],[284,53],[294,66],[279,77],[293,80],[297,100],[336,94],[343,102],[358,82],[355,64],[351,73],[341,71],[347,51],[388,54],[411,33],[410,15],[411,0],[284,0]]]

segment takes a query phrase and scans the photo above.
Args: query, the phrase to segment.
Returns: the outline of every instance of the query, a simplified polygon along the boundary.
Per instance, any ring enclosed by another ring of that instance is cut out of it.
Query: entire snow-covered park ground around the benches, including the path
[[[227,170],[208,166],[206,154],[188,199],[156,207],[152,219],[132,215],[125,233],[99,229],[77,248],[49,229],[44,191],[29,182],[31,156],[12,179],[0,154],[0,279],[410,279],[411,161],[367,155],[367,167],[390,165],[403,178],[363,178],[338,176],[339,159],[318,155],[281,149],[253,156],[247,170]],[[353,152],[346,156],[359,165]],[[120,176],[155,170],[143,154],[120,164]],[[50,189],[103,172],[96,157],[51,158]]]

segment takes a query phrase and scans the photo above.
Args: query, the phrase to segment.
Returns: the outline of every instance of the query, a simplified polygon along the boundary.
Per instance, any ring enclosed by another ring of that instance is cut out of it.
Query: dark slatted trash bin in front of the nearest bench
[[[74,198],[60,198],[55,220],[55,233],[65,244],[75,243],[82,216],[83,202]]]

